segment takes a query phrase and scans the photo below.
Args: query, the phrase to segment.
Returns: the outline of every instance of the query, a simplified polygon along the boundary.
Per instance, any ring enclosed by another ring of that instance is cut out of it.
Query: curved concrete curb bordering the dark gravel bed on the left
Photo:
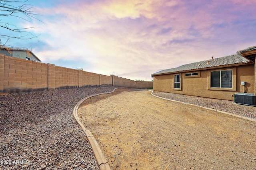
[[[94,138],[92,133],[84,127],[82,121],[78,117],[77,111],[78,111],[78,107],[80,106],[80,104],[82,104],[82,102],[84,102],[84,100],[91,98],[93,96],[101,95],[101,94],[113,93],[116,89],[118,89],[118,88],[115,88],[112,92],[105,92],[105,93],[99,93],[99,94],[93,94],[91,96],[87,96],[86,98],[83,98],[82,100],[80,100],[80,102],[78,102],[73,109],[73,116],[76,119],[77,123],[80,125],[80,127],[83,129],[84,133],[86,134],[86,137],[92,147],[92,151],[94,153],[94,156],[96,158],[96,161],[98,163],[100,170],[111,170],[111,169],[110,169],[108,161],[106,160],[104,154],[102,153],[102,150],[100,149],[96,139]]]

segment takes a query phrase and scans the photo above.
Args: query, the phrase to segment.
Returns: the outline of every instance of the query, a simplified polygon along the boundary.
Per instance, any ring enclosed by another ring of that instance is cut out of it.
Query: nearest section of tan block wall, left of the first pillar
[[[48,66],[44,63],[0,55],[0,79],[2,93],[46,90]]]

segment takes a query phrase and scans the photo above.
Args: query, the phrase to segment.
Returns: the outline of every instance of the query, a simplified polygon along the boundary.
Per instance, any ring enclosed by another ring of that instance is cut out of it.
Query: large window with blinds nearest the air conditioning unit
[[[232,70],[211,71],[210,87],[232,88]]]

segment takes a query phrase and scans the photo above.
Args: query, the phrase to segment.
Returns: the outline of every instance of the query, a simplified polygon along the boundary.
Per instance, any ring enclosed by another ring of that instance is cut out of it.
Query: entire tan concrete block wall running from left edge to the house
[[[0,54],[0,93],[18,93],[93,86],[153,88],[153,82],[106,76]]]

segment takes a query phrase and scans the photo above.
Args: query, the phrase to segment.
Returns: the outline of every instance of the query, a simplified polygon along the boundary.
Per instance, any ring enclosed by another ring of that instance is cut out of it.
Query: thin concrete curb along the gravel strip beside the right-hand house
[[[164,99],[164,100],[170,100],[172,102],[178,102],[178,103],[182,103],[182,104],[188,104],[188,105],[191,105],[191,106],[197,106],[197,107],[201,107],[201,108],[204,108],[204,109],[207,109],[207,110],[212,110],[212,111],[216,111],[216,112],[219,112],[219,113],[224,113],[224,114],[227,114],[227,115],[231,115],[231,116],[234,116],[234,117],[239,117],[241,119],[246,119],[248,121],[254,121],[256,122],[256,119],[252,119],[252,118],[249,118],[249,117],[244,117],[244,116],[241,116],[241,115],[236,115],[236,114],[233,114],[233,113],[228,113],[226,111],[220,111],[220,110],[217,110],[217,109],[212,109],[212,108],[208,108],[208,107],[204,107],[204,106],[198,106],[198,105],[195,105],[195,104],[190,104],[190,103],[185,103],[185,102],[180,102],[180,101],[176,101],[176,100],[171,100],[171,99],[166,99],[166,98],[162,98],[160,96],[156,96],[153,94],[153,91],[152,90],[148,90],[148,91],[151,91],[151,94],[157,98],[161,98],[161,99]]]

